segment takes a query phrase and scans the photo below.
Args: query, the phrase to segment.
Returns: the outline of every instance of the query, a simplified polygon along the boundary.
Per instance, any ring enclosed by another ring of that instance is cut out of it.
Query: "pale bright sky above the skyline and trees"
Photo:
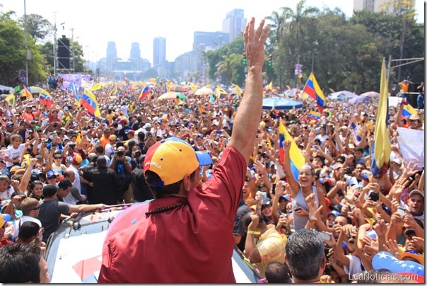
[[[25,0],[0,0],[1,11],[24,14]],[[139,42],[141,57],[153,62],[153,39],[166,38],[166,59],[172,62],[184,52],[192,50],[195,31],[222,30],[226,13],[242,8],[248,20],[271,16],[272,11],[288,6],[295,8],[298,0],[26,0],[26,13],[39,14],[50,23],[57,23],[57,37],[66,35],[83,46],[84,57],[98,60],[105,57],[107,42],[116,42],[117,55],[129,57],[131,43]],[[341,8],[347,16],[353,14],[352,0],[307,0],[306,6]],[[56,12],[56,13],[54,13]],[[419,22],[424,21],[424,1],[416,0]],[[64,23],[64,25],[59,25]],[[63,29],[64,27],[64,29]],[[53,33],[49,35],[53,41]]]

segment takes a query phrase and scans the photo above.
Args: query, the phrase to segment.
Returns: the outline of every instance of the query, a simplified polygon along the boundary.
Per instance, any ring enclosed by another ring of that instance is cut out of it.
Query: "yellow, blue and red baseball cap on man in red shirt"
[[[194,151],[185,141],[177,137],[163,139],[151,146],[146,154],[144,173],[153,171],[160,179],[163,187],[181,181],[185,175],[193,173],[199,166],[212,164],[209,153]]]

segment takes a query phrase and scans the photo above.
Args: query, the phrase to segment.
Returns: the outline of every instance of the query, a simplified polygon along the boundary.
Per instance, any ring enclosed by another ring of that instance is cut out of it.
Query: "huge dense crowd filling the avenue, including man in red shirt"
[[[423,281],[402,273],[424,265],[424,170],[404,159],[397,139],[397,127],[423,130],[423,110],[405,118],[404,105],[389,108],[392,154],[387,173],[375,178],[378,100],[328,98],[313,118],[316,103],[297,92],[292,97],[303,108],[262,110],[267,31],[253,20],[247,25],[251,68],[241,95],[213,102],[188,88],[185,100],[158,101],[165,93],[158,82],[139,101],[140,90],[128,82],[110,84],[94,91],[99,117],[60,85],[47,88],[49,107],[37,98],[2,101],[0,273],[18,263],[11,258],[16,244],[44,249],[77,212],[152,200],[129,209],[137,220],[122,216],[112,225],[100,282],[233,282],[234,244],[269,282],[366,282],[387,274],[399,274],[389,282]],[[281,124],[305,159],[296,172]],[[132,241],[144,241],[134,256],[124,250]],[[165,259],[170,249],[174,257]],[[383,256],[402,268],[382,263]]]

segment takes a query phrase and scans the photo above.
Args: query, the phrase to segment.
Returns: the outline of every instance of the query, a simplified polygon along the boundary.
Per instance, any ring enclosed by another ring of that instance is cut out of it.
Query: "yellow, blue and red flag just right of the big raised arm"
[[[286,130],[285,125],[282,122],[279,123],[279,159],[281,164],[285,161],[284,151],[283,151],[283,141],[291,140],[291,150],[289,151],[289,156],[291,159],[291,170],[293,178],[298,181],[300,174],[300,168],[305,164],[305,158],[301,154],[301,150],[296,145],[296,142],[293,141],[292,136]]]

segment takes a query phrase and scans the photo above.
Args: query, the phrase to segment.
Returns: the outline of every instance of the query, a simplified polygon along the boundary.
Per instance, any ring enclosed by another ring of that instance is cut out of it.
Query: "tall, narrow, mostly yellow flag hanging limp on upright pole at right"
[[[370,147],[370,171],[375,178],[381,178],[387,173],[387,163],[390,161],[391,144],[387,133],[388,87],[385,78],[385,59],[382,58],[380,101],[378,102],[377,123],[372,146]]]

